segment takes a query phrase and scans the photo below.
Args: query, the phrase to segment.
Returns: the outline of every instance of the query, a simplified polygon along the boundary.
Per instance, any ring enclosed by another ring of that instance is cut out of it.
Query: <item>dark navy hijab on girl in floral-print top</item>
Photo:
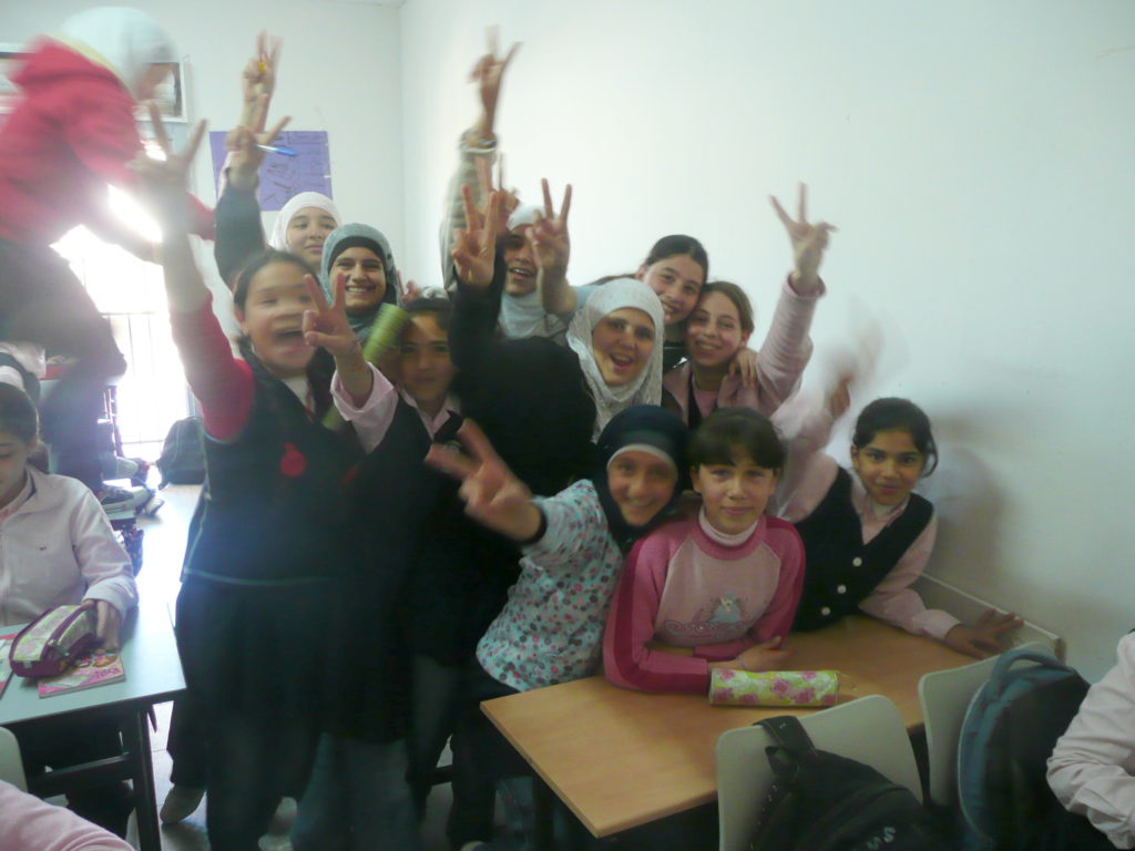
[[[687,477],[686,446],[689,443],[689,430],[679,416],[657,405],[636,405],[621,411],[611,418],[611,422],[599,435],[595,447],[595,472],[591,483],[599,495],[599,505],[607,519],[611,536],[624,553],[630,550],[634,541],[661,523],[682,494],[682,482]],[[649,523],[640,526],[630,525],[623,513],[611,496],[607,486],[607,464],[621,450],[634,444],[646,444],[664,453],[674,462],[678,481],[670,503],[662,508]]]

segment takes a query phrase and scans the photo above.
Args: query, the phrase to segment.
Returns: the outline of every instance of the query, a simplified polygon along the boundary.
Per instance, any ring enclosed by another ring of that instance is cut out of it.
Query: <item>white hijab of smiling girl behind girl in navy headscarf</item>
[[[621,387],[603,380],[591,352],[591,332],[599,320],[623,307],[637,307],[654,321],[654,352],[642,371]],[[662,302],[654,290],[634,278],[615,278],[598,287],[568,328],[568,345],[579,355],[579,365],[595,399],[595,433],[598,437],[611,418],[632,405],[662,403]]]

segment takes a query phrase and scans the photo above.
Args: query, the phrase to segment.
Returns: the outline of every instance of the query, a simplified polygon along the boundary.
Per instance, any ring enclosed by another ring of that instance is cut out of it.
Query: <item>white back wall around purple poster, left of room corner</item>
[[[107,2],[5,2],[0,41],[26,42],[50,33],[70,14]],[[289,129],[327,130],[331,188],[339,212],[382,230],[401,252],[402,93],[398,10],[344,0],[123,0],[152,15],[188,62],[191,117],[227,130],[241,107],[239,79],[267,28],[284,41],[272,117]],[[197,158],[195,191],[216,197],[208,148]],[[266,225],[275,213],[266,213]]]

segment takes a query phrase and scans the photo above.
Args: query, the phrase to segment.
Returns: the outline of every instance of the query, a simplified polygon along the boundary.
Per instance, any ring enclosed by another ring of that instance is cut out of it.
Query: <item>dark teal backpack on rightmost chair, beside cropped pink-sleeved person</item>
[[[1001,654],[969,701],[958,740],[962,851],[1075,848],[1053,829],[1067,811],[1049,789],[1045,764],[1087,689],[1051,656]]]

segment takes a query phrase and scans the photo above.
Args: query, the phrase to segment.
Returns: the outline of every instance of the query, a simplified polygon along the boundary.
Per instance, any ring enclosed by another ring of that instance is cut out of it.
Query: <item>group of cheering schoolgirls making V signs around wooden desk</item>
[[[491,51],[474,69],[485,115],[469,152],[495,146],[507,61]],[[634,275],[571,287],[570,195],[558,212],[547,191],[543,209],[520,207],[481,167],[476,185],[459,178],[443,231],[452,298],[406,305],[377,369],[362,340],[400,301],[381,234],[306,196],[264,250],[254,188],[258,145],[283,126],[266,129],[274,83],[260,45],[216,211],[236,353],[188,238],[201,128],[124,178],[162,226],[170,321],[207,433],[177,634],[215,849],[255,848],[288,794],[299,851],[417,848],[449,735],[449,840],[488,839],[498,772],[478,701],[589,675],[604,656],[621,684],[704,690],[712,666],[781,665],[798,607],[817,626],[861,606],[974,652],[1011,625],[927,615],[908,588],[934,534],[910,494],[936,455],[920,411],[868,406],[855,475],[817,452],[841,404],[801,418],[812,424],[788,449],[767,419],[798,386],[823,293],[831,228],[807,222],[802,197],[798,219],[776,204],[796,269],[754,354],[748,300],[707,283],[698,241],[665,237]],[[799,482],[783,506],[796,528],[766,512],[782,471]],[[701,507],[663,524],[687,480]]]

